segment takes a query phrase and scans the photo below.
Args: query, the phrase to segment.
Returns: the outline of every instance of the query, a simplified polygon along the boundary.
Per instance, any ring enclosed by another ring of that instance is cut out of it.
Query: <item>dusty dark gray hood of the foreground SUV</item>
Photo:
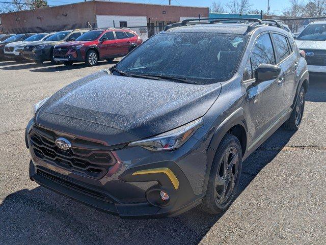
[[[221,87],[220,83],[191,85],[108,75],[102,71],[51,96],[41,107],[36,123],[60,115],[146,138],[203,116],[218,98]]]

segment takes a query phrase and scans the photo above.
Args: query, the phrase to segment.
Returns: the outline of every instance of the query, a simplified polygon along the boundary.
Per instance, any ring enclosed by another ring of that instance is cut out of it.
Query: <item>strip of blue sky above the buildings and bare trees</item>
[[[216,0],[215,0],[216,1]],[[76,2],[84,2],[83,0],[47,0],[48,5],[63,5]],[[149,3],[149,4],[169,4],[168,0],[111,0],[111,2],[132,2],[132,3]],[[204,6],[211,7],[214,0],[172,0],[172,5],[183,6]],[[228,0],[220,0],[216,2],[228,3]],[[267,0],[250,0],[253,9],[267,11]],[[275,14],[282,14],[283,9],[289,6],[288,0],[270,0],[270,12]]]

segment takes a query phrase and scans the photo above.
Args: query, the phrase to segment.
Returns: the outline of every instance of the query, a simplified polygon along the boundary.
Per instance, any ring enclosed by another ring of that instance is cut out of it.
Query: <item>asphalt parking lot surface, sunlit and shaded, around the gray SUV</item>
[[[311,78],[301,128],[277,130],[244,162],[238,197],[219,216],[193,209],[121,220],[30,181],[24,128],[32,105],[114,63],[0,62],[0,244],[324,244],[326,78]]]

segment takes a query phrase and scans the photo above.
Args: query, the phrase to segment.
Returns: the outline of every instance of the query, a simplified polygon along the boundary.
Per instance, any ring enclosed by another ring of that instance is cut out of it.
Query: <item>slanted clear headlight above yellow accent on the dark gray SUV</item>
[[[157,135],[154,138],[131,142],[129,146],[141,146],[151,151],[169,151],[182,146],[201,126],[204,117],[189,122],[181,127]]]

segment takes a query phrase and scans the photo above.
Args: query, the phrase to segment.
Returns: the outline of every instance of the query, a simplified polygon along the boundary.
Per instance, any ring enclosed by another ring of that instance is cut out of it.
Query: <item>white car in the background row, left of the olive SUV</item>
[[[55,32],[52,33],[38,33],[35,34],[29,38],[26,38],[23,41],[18,41],[18,42],[12,42],[12,43],[8,43],[5,48],[4,48],[4,52],[5,52],[5,56],[9,59],[19,59],[22,58],[22,49],[25,45],[28,45],[32,42],[35,41],[44,41],[46,40],[48,37],[52,36],[53,34],[55,34]]]

